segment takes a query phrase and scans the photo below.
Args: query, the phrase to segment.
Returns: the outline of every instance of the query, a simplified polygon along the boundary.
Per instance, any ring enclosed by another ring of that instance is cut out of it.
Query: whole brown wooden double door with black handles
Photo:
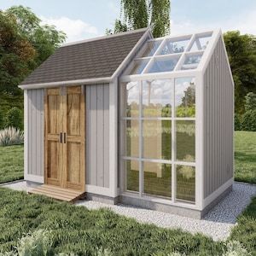
[[[82,86],[45,89],[44,183],[84,191],[85,107]]]

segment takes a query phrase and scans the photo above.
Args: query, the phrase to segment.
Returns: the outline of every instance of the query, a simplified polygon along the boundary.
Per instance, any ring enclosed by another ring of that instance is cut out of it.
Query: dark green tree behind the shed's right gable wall
[[[256,37],[238,31],[224,33],[225,46],[235,81],[235,111],[245,112],[245,96],[256,93]]]

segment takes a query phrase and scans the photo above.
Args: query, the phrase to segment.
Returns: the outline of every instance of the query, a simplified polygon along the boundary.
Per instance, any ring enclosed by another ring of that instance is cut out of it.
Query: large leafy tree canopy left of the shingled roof
[[[17,95],[17,85],[65,41],[55,26],[41,25],[32,10],[0,11],[0,94]]]

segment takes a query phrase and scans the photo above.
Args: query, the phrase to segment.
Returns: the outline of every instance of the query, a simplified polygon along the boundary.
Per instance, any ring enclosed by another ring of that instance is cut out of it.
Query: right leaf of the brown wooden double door
[[[84,90],[81,86],[65,88],[63,101],[63,178],[62,186],[84,191],[85,172],[85,111]]]

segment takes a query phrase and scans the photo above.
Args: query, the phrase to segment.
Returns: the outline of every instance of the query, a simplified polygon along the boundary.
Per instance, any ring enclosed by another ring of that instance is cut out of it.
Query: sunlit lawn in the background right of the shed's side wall
[[[256,132],[235,132],[235,179],[256,183]]]

